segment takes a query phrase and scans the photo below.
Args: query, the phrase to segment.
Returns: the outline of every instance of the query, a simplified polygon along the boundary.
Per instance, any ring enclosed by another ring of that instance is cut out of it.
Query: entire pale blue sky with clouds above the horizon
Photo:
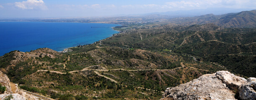
[[[256,9],[256,0],[0,0],[0,18],[104,17],[207,8]]]

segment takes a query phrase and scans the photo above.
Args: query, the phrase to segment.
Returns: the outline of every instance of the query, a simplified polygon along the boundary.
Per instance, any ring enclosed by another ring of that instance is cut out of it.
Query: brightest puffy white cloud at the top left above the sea
[[[14,5],[23,10],[47,10],[43,0],[27,0],[22,2],[15,2]]]

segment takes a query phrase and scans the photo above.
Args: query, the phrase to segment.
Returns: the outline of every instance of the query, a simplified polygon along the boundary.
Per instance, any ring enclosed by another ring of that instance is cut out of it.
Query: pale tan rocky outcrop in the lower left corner
[[[17,84],[11,83],[7,75],[3,74],[3,72],[1,71],[0,84],[6,87],[5,92],[3,94],[0,94],[0,100],[3,100],[5,97],[9,95],[13,95],[12,100],[39,100],[33,95],[29,95],[26,94],[26,92],[23,92],[21,89],[18,88]]]

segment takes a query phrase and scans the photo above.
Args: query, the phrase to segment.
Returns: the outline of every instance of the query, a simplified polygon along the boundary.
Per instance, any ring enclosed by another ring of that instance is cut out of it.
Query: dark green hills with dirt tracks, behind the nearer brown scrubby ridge
[[[224,65],[231,72],[255,77],[255,38],[255,28],[222,28],[214,24],[162,25],[157,29],[129,30],[101,42],[106,45],[196,56],[201,61]],[[237,69],[238,67],[241,68]]]

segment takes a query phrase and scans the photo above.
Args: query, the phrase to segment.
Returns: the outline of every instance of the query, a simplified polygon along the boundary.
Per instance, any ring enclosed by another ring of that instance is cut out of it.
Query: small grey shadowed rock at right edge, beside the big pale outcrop
[[[242,100],[256,100],[256,78],[248,78],[247,83],[239,87],[239,98]]]

